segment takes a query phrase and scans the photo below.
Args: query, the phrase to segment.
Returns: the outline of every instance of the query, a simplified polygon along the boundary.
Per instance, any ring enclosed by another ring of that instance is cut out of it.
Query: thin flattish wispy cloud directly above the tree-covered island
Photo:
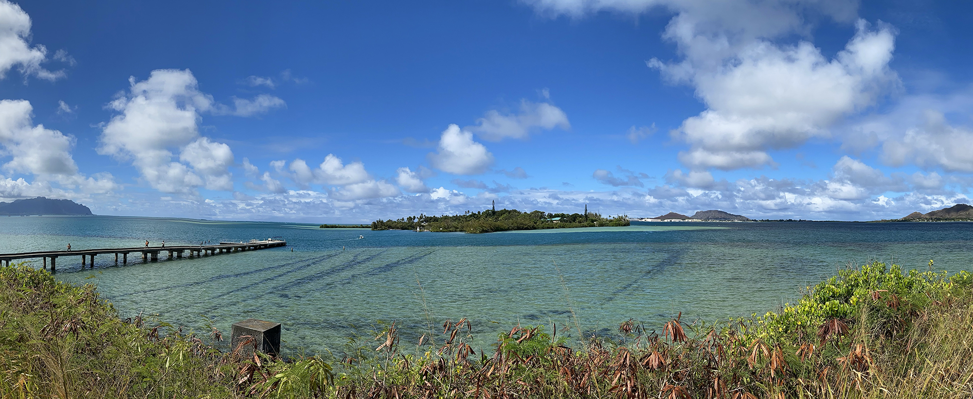
[[[504,138],[526,138],[531,130],[536,128],[552,129],[571,128],[567,122],[567,115],[560,108],[546,102],[530,102],[521,100],[519,114],[501,114],[496,110],[489,110],[483,118],[477,120],[477,126],[467,127],[471,131],[488,141],[500,141]]]

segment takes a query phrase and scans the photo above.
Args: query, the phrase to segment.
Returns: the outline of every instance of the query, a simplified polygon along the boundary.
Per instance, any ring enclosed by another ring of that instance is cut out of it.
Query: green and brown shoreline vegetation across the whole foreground
[[[971,283],[967,272],[875,263],[809,287],[795,305],[717,324],[677,317],[657,333],[629,320],[614,339],[576,343],[523,326],[490,352],[468,344],[466,320],[420,343],[400,343],[392,324],[341,356],[285,361],[217,350],[215,330],[118,320],[91,285],[5,267],[0,396],[967,399]]]

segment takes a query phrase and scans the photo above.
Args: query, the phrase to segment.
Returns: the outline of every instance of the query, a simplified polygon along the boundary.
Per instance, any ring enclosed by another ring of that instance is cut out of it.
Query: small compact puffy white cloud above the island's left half
[[[456,125],[443,130],[439,152],[429,153],[428,158],[433,167],[452,174],[479,174],[493,164],[493,154],[473,141],[473,133]]]

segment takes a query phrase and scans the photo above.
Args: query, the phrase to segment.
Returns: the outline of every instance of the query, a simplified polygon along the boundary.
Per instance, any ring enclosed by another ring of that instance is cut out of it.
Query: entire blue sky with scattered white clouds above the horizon
[[[973,5],[0,0],[0,200],[362,223],[970,202]]]

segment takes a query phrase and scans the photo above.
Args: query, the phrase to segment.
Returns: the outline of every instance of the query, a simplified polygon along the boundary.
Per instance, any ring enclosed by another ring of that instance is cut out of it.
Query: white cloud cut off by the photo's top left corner
[[[41,66],[47,60],[48,50],[44,45],[30,47],[28,38],[30,16],[17,4],[0,0],[0,79],[15,66],[24,78],[35,76],[52,82],[63,78],[64,71],[52,72]]]

